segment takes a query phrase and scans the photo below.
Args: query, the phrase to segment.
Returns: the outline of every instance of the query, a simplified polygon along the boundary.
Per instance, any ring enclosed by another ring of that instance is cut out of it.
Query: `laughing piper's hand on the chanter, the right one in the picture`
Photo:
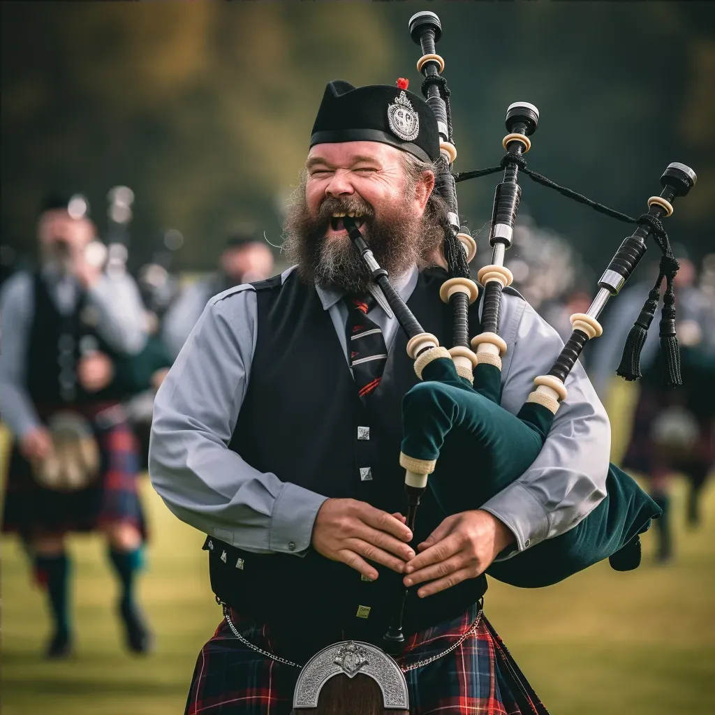
[[[463,511],[448,516],[405,568],[405,586],[432,581],[417,592],[420,598],[456,586],[483,573],[498,553],[514,541],[511,530],[488,511]]]

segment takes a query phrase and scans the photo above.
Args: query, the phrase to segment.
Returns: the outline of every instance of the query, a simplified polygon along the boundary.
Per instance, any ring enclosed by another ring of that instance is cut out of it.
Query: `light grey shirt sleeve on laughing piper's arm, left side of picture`
[[[326,497],[262,473],[228,448],[256,320],[250,286],[209,301],[154,401],[149,475],[169,510],[200,531],[247,551],[300,556]]]

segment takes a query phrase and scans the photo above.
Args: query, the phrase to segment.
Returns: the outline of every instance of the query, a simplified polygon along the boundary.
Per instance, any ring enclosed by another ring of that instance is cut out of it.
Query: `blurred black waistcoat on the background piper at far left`
[[[101,350],[114,359],[114,351],[97,335],[96,320],[87,296],[82,291],[74,311],[63,315],[57,310],[44,278],[36,274],[34,315],[26,349],[26,384],[36,405],[67,407],[117,400],[121,390],[116,382],[88,393],[77,380],[77,362],[82,350]]]

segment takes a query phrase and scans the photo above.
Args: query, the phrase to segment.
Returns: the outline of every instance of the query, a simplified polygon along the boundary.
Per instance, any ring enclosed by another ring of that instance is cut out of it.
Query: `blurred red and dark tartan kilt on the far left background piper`
[[[137,439],[126,420],[105,424],[91,420],[99,445],[99,477],[87,488],[71,492],[44,488],[17,445],[11,450],[5,484],[1,531],[23,538],[69,531],[97,531],[111,523],[132,523],[142,538],[147,530],[137,480]]]

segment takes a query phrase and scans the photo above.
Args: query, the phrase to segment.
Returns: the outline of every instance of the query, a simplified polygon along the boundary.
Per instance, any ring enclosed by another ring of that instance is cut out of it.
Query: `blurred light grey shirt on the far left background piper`
[[[82,290],[74,277],[44,270],[51,300],[67,315],[74,310]],[[87,290],[88,305],[97,311],[97,332],[117,352],[135,355],[147,341],[144,307],[134,279],[126,274],[101,275]],[[34,318],[34,283],[27,272],[9,277],[0,292],[0,405],[11,431],[22,438],[39,424],[25,389],[25,360]]]

